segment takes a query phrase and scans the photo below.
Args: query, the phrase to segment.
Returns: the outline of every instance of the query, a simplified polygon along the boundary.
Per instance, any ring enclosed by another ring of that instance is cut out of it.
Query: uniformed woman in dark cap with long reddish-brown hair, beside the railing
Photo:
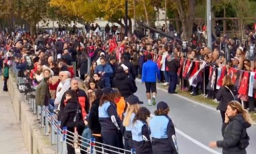
[[[100,106],[98,108],[98,117],[101,127],[101,137],[105,145],[113,147],[122,147],[123,141],[121,141],[121,119],[117,114],[117,105],[115,104],[115,90],[110,87],[106,87],[102,90],[103,95],[100,99]],[[104,146],[104,153],[115,153],[112,151],[118,151],[113,147]]]

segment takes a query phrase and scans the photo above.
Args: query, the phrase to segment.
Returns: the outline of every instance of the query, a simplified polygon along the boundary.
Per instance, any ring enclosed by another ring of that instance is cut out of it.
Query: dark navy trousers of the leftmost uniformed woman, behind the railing
[[[111,153],[116,154],[112,151],[119,151],[118,149],[115,149],[113,147],[119,147],[119,133],[115,130],[109,131],[109,130],[101,130],[101,137],[102,141],[105,144],[104,147],[104,153]],[[110,145],[113,147],[108,147],[106,145]],[[108,151],[110,149],[111,151]]]

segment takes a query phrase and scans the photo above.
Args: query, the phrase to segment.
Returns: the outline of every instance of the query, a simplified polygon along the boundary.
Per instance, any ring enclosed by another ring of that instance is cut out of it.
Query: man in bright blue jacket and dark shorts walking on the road
[[[148,61],[142,66],[141,82],[146,85],[146,93],[148,98],[148,105],[151,105],[151,93],[152,104],[156,104],[156,75],[160,80],[160,70],[155,62],[152,61],[152,54],[147,55]],[[151,93],[150,93],[151,92]]]

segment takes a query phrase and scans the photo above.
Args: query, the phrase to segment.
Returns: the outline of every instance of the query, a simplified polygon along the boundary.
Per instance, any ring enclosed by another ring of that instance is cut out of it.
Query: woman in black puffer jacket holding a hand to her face
[[[223,154],[246,154],[249,145],[247,129],[253,121],[240,102],[228,102],[225,121],[222,124],[223,140],[210,142],[210,147],[222,147]]]

